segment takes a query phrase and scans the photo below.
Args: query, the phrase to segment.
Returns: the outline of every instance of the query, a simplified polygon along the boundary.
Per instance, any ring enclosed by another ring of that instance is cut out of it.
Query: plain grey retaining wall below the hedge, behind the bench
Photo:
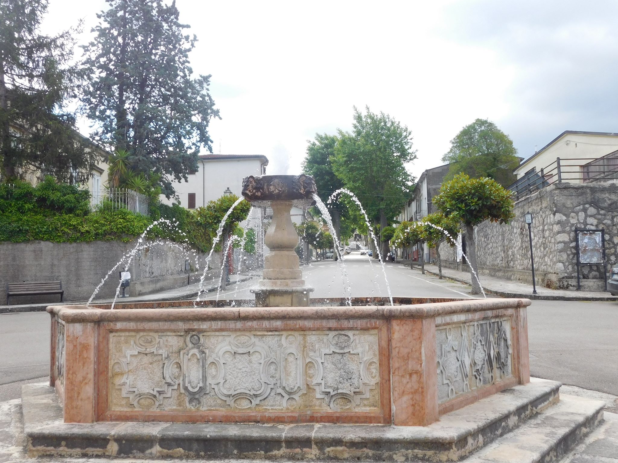
[[[28,241],[27,243],[0,242],[0,288],[3,288],[0,303],[6,303],[6,285],[14,282],[45,282],[60,280],[64,301],[86,301],[101,279],[107,275],[122,256],[135,248],[137,241],[91,241],[87,243],[51,243]],[[187,255],[188,252],[188,255]],[[189,259],[192,272],[185,273],[185,259]],[[131,284],[127,288],[132,296],[149,294],[187,285],[199,280],[206,254],[195,249],[182,249],[178,243],[155,241],[140,244],[132,264]],[[197,273],[196,262],[200,273]],[[221,252],[213,253],[209,262],[215,273],[221,269]],[[119,266],[97,294],[97,299],[112,298],[118,285]],[[56,295],[12,296],[11,304],[36,302],[59,302]]]

